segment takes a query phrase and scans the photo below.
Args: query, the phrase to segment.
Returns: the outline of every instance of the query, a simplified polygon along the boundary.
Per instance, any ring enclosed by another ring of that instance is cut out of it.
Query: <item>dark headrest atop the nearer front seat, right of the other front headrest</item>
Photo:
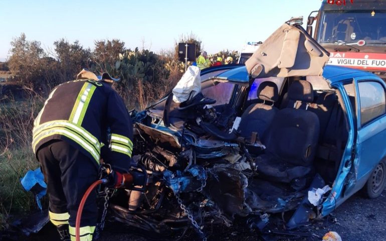
[[[314,100],[314,90],[311,83],[305,80],[292,82],[288,89],[288,98],[292,100],[312,102]]]

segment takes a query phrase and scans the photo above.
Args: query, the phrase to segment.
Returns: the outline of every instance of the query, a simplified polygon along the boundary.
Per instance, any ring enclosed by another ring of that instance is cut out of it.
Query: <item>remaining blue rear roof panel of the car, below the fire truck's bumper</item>
[[[331,84],[335,82],[341,82],[347,79],[352,79],[354,77],[359,77],[359,76],[378,78],[375,74],[372,74],[370,72],[353,69],[353,68],[334,66],[334,65],[326,65],[323,68],[322,76],[325,80],[327,80]]]

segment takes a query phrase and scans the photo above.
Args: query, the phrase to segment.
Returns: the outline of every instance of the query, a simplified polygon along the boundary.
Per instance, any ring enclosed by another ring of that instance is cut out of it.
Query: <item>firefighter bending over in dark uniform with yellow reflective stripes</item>
[[[61,240],[75,240],[75,220],[87,188],[98,179],[99,161],[114,170],[108,184],[118,187],[132,153],[132,124],[122,98],[112,89],[117,79],[82,70],[77,80],[50,93],[34,123],[32,147],[47,183],[49,216]],[[92,240],[98,217],[96,192],[87,199],[81,240]]]

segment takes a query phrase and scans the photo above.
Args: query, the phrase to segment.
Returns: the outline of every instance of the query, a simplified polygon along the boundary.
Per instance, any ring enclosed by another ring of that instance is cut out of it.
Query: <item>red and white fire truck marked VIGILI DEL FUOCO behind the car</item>
[[[309,15],[307,32],[330,52],[328,64],[386,80],[386,1],[323,0]]]

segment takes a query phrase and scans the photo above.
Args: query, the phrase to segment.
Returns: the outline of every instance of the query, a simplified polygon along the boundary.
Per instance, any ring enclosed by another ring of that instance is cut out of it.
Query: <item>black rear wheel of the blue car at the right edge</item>
[[[372,171],[366,184],[364,185],[364,194],[368,198],[377,198],[384,190],[386,184],[386,160],[381,160]]]

